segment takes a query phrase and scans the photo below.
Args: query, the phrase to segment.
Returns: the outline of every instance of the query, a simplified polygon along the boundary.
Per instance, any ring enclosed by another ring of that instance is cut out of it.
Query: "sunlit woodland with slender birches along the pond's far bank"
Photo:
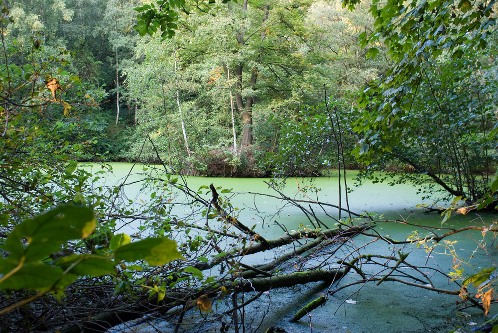
[[[317,175],[333,160],[327,156],[333,139],[322,119],[308,128],[315,121],[306,117],[323,112],[308,109],[331,94],[352,124],[358,117],[352,94],[389,66],[385,54],[366,59],[368,50],[358,45],[358,36],[373,28],[368,3],[354,12],[324,1],[266,9],[262,3],[199,3],[193,13],[179,11],[170,23],[176,38],[167,40],[138,36],[133,8],[139,1],[6,3],[13,22],[5,42],[15,39],[25,49],[40,38],[37,56],[45,59],[74,52],[74,58],[59,56],[68,75],[56,77],[65,86],[69,74],[79,76],[102,103],[70,112],[80,123],[74,142],[98,137],[80,159],[134,161],[149,134],[159,156],[183,173],[268,176],[283,166],[273,157],[286,151],[285,137],[300,130],[310,142],[287,151],[288,173]],[[47,120],[57,121],[64,110],[52,105],[46,111]],[[352,146],[357,137],[345,140]],[[303,153],[305,161],[298,158]],[[141,158],[157,161],[150,144]]]

